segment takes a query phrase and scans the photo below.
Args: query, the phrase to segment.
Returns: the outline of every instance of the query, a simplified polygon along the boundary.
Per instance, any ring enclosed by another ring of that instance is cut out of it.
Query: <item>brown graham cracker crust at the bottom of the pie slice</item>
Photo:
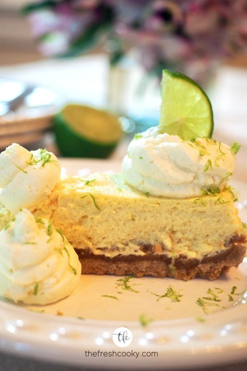
[[[136,277],[174,277],[180,280],[202,277],[216,279],[231,267],[238,267],[246,253],[245,236],[235,235],[227,243],[226,249],[202,260],[178,256],[174,262],[165,254],[147,253],[143,256],[118,255],[113,258],[93,255],[89,250],[75,249],[82,266],[83,274],[113,274],[118,276],[134,275]]]

